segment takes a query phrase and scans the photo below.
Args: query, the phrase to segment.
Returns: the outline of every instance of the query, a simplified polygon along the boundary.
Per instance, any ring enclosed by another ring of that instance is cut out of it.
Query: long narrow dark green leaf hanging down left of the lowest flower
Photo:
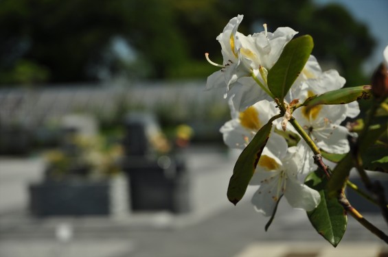
[[[232,204],[236,205],[244,196],[245,191],[247,191],[249,181],[251,181],[262,151],[268,141],[269,134],[271,134],[271,129],[272,121],[266,123],[255,134],[251,143],[245,147],[238,157],[227,191],[227,197]]]

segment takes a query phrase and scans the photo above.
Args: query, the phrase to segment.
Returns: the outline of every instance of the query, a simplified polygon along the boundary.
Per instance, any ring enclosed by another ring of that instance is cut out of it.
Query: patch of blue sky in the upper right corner
[[[318,4],[339,3],[349,10],[354,18],[365,23],[376,40],[374,52],[364,65],[372,72],[383,61],[383,51],[388,45],[388,0],[315,0]]]

